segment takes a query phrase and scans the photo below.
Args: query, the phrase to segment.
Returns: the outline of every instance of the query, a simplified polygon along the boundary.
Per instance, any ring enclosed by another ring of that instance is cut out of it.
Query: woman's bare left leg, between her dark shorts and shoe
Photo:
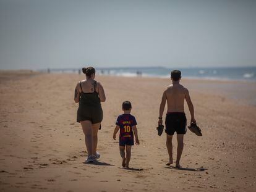
[[[80,122],[83,128],[83,133],[85,135],[85,146],[87,148],[88,156],[93,154],[93,131],[92,122],[90,120],[85,120]]]

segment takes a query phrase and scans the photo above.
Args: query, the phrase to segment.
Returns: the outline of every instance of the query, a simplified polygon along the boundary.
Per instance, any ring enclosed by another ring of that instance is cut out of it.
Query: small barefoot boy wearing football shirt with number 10
[[[132,104],[130,101],[124,101],[122,103],[122,111],[124,111],[124,114],[117,117],[116,128],[113,133],[113,139],[116,140],[116,133],[120,129],[119,149],[122,157],[122,167],[126,167],[127,169],[129,169],[132,146],[134,145],[134,135],[135,143],[140,144],[136,127],[137,122],[135,117],[130,114],[131,110]]]

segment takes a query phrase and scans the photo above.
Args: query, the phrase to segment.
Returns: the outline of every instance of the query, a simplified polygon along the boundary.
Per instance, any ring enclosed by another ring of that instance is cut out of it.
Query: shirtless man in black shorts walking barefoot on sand
[[[191,115],[190,122],[196,122],[194,117],[194,106],[189,96],[189,90],[184,88],[179,81],[181,80],[181,71],[173,70],[171,72],[171,80],[173,84],[169,85],[163,93],[162,101],[160,104],[158,125],[163,123],[163,112],[167,101],[167,114],[165,119],[166,127],[166,146],[169,154],[169,162],[166,165],[173,164],[173,135],[177,133],[177,159],[176,167],[179,168],[181,165],[179,161],[183,150],[183,137],[186,134],[187,119],[184,113],[184,99],[187,101],[189,106],[189,112]]]

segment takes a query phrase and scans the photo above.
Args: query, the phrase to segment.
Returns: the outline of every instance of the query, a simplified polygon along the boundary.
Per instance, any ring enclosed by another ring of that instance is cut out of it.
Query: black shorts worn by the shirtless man
[[[184,112],[168,112],[165,119],[165,132],[168,135],[186,134],[187,118]]]

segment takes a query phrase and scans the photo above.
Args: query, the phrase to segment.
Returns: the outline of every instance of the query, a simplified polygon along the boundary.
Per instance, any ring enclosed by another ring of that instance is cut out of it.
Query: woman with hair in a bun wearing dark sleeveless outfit
[[[100,158],[97,152],[98,130],[103,120],[101,102],[105,102],[105,92],[100,82],[94,80],[95,69],[84,67],[82,69],[86,79],[79,81],[75,86],[75,102],[79,102],[77,109],[77,122],[80,122],[85,135],[85,145],[88,157],[85,162],[93,162]]]

